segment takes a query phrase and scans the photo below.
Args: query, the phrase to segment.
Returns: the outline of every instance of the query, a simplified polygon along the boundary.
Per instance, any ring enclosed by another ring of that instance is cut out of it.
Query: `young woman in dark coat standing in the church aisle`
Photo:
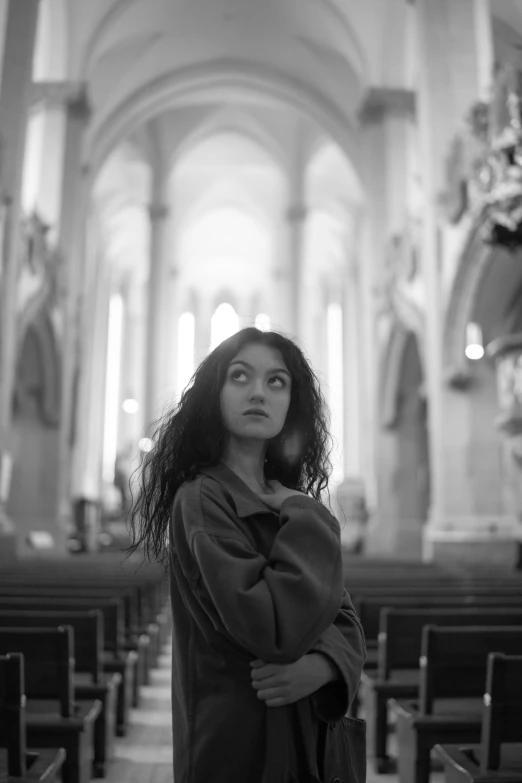
[[[315,752],[355,696],[365,646],[320,501],[328,441],[301,350],[247,328],[200,364],[144,457],[133,548],[169,565],[176,783],[308,781],[283,727],[309,710]]]

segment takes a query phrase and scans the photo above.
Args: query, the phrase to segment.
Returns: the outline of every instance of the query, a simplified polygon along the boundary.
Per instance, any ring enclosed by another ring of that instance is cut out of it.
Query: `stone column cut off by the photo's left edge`
[[[4,530],[12,533],[3,509],[10,483],[20,196],[37,18],[38,0],[11,0],[0,7],[0,207],[5,208],[0,248],[0,536]],[[12,543],[12,537],[9,540]],[[6,552],[9,546],[5,539],[0,549]]]

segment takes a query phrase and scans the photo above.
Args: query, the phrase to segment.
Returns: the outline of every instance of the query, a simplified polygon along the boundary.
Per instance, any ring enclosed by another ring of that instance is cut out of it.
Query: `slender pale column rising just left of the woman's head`
[[[148,287],[147,349],[145,357],[145,427],[159,418],[167,402],[165,398],[164,366],[167,351],[174,346],[165,334],[168,307],[169,254],[167,225],[169,209],[165,204],[153,203],[150,215],[150,267]]]

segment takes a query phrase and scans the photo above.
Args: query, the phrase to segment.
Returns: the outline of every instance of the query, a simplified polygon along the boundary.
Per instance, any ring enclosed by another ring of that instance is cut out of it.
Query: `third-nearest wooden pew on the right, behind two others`
[[[379,774],[393,771],[386,753],[388,699],[413,699],[419,689],[419,658],[423,628],[503,625],[522,628],[522,607],[381,609],[378,668],[363,672],[362,701],[368,726],[368,748]]]

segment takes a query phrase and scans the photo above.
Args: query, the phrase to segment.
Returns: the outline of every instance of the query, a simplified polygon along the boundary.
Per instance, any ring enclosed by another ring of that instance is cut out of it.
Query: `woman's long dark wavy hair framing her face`
[[[201,362],[179,403],[155,422],[153,447],[142,452],[133,476],[138,474],[136,497],[131,482],[129,555],[142,548],[147,560],[167,563],[174,496],[201,468],[221,461],[228,437],[221,390],[232,359],[251,344],[280,351],[292,378],[285,424],[267,444],[265,479],[276,479],[316,500],[327,490],[331,473],[329,413],[317,376],[288,337],[248,327],[224,340]]]

